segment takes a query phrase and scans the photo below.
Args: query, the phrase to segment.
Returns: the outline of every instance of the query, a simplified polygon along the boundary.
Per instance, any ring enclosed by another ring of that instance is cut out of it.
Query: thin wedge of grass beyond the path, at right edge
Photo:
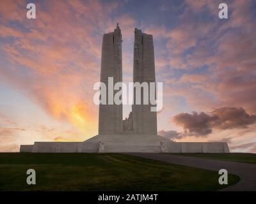
[[[256,164],[256,154],[252,153],[178,153],[174,155]]]

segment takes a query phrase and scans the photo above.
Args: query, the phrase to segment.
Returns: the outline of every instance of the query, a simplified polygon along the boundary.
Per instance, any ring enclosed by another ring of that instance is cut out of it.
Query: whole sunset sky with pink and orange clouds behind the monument
[[[256,153],[255,1],[33,1],[36,19],[26,18],[28,3],[0,1],[0,152],[97,135],[102,35],[118,22],[124,82],[134,28],[153,35],[159,135]],[[228,19],[218,17],[220,3]]]

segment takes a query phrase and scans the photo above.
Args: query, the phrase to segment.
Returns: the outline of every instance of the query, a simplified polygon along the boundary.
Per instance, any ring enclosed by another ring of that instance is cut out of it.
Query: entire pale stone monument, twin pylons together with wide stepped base
[[[102,39],[100,82],[106,84],[107,101],[117,92],[109,89],[109,78],[114,84],[122,82],[122,33],[118,24],[114,32],[104,34]],[[134,31],[133,82],[156,82],[153,36],[140,29]],[[225,142],[173,142],[158,136],[157,112],[151,110],[150,104],[143,103],[149,97],[143,93],[140,93],[141,103],[133,103],[132,112],[125,120],[122,103],[100,104],[97,136],[84,142],[20,145],[20,152],[229,152]],[[134,101],[136,97],[134,92]]]

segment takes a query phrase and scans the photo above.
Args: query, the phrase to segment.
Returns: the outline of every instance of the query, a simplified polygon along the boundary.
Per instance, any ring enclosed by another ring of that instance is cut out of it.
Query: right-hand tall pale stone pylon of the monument
[[[150,82],[156,83],[154,43],[151,34],[141,33],[140,29],[134,31],[134,62],[133,82],[146,82],[150,90]],[[156,89],[156,87],[155,87]],[[141,105],[136,105],[134,89],[134,105],[132,105],[132,120],[134,133],[157,135],[157,113],[151,112],[150,103],[143,104],[143,89],[141,89]],[[150,101],[148,94],[148,101]],[[154,96],[156,99],[156,94]]]

